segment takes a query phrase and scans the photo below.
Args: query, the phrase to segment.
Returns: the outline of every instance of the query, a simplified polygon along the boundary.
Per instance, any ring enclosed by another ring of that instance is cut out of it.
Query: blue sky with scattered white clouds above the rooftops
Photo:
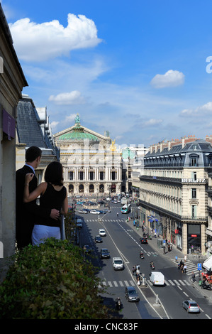
[[[211,0],[4,0],[13,45],[52,132],[116,144],[212,134]],[[210,58],[211,57],[211,58]]]

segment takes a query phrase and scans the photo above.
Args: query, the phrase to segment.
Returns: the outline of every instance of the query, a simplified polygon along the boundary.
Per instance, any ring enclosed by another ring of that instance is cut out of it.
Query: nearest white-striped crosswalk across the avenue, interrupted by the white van
[[[166,286],[191,286],[192,283],[190,281],[186,281],[186,279],[167,279],[164,280]],[[102,286],[108,288],[118,288],[118,287],[125,287],[125,286],[137,286],[135,281],[102,281]],[[99,285],[99,288],[101,285]]]

